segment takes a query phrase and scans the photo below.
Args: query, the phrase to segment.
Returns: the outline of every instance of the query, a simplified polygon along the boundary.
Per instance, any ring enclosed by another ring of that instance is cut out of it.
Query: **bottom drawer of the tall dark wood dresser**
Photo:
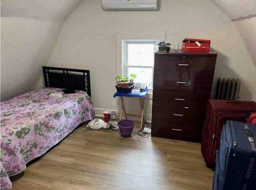
[[[179,123],[152,119],[152,137],[200,142],[202,127],[191,123]]]

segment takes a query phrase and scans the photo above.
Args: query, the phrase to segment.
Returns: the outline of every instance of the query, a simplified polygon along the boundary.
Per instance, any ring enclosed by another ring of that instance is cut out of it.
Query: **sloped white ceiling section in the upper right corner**
[[[256,67],[256,0],[212,0],[212,2],[234,21]]]

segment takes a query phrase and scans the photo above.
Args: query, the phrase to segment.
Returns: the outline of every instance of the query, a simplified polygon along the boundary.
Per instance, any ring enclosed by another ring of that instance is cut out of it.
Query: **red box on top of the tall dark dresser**
[[[182,41],[182,51],[185,52],[209,52],[211,41],[208,39],[185,38]]]

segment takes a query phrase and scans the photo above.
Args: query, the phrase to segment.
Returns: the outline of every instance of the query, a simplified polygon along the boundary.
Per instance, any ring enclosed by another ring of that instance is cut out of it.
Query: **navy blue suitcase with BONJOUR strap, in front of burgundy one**
[[[213,190],[256,190],[256,126],[226,121],[216,151]]]

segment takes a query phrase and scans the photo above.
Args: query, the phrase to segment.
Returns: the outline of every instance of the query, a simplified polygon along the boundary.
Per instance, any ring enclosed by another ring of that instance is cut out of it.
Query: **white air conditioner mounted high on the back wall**
[[[102,0],[104,10],[157,10],[158,0]]]

